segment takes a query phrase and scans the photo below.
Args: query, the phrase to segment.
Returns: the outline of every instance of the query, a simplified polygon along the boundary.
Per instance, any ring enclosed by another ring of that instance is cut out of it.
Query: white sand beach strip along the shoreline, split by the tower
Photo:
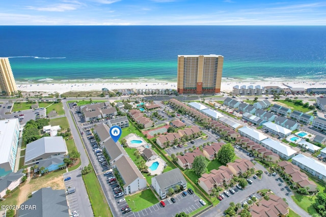
[[[231,92],[235,85],[260,85],[260,86],[279,86],[281,88],[291,87],[304,87],[307,88],[326,88],[325,82],[284,82],[284,81],[271,81],[271,82],[241,82],[241,81],[222,81],[221,91]],[[68,91],[89,91],[107,89],[176,89],[175,82],[168,83],[39,83],[39,84],[17,84],[18,90],[21,91],[44,91],[44,92],[63,92]]]

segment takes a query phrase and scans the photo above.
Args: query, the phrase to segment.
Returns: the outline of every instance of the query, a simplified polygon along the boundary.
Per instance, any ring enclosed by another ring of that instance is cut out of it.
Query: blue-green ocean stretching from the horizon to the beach
[[[326,26],[0,26],[17,83],[156,82],[177,55],[221,54],[223,80],[326,79]]]

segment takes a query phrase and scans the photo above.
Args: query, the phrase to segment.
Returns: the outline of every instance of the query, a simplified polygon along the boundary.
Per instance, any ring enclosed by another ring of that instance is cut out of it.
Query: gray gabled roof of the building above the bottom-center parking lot
[[[152,183],[154,182],[153,180],[156,180],[156,183],[158,184],[162,193],[166,193],[165,189],[167,187],[170,187],[180,181],[182,181],[182,183],[187,183],[179,168],[154,176],[152,177]]]

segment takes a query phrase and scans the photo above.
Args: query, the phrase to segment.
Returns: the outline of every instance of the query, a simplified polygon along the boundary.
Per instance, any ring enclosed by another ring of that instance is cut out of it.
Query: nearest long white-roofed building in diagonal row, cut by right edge
[[[292,158],[292,164],[326,181],[326,165],[312,158],[298,154]]]

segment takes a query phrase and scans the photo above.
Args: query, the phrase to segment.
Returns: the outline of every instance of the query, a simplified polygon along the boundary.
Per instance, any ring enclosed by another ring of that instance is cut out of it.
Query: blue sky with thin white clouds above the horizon
[[[325,25],[325,1],[4,0],[0,25]]]

